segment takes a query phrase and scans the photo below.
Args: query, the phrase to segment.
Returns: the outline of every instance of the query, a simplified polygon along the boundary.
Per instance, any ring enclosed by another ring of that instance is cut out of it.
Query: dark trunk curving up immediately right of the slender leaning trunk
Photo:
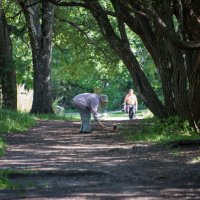
[[[160,75],[166,111],[169,116],[175,115],[176,108],[174,103],[173,73],[170,63],[171,57],[169,50],[163,48],[166,45],[165,41],[152,31],[151,24],[147,17],[139,14],[133,17],[124,4],[120,2],[117,2],[117,4],[120,6],[121,19],[123,19],[128,27],[140,37],[144,46],[151,54]]]

